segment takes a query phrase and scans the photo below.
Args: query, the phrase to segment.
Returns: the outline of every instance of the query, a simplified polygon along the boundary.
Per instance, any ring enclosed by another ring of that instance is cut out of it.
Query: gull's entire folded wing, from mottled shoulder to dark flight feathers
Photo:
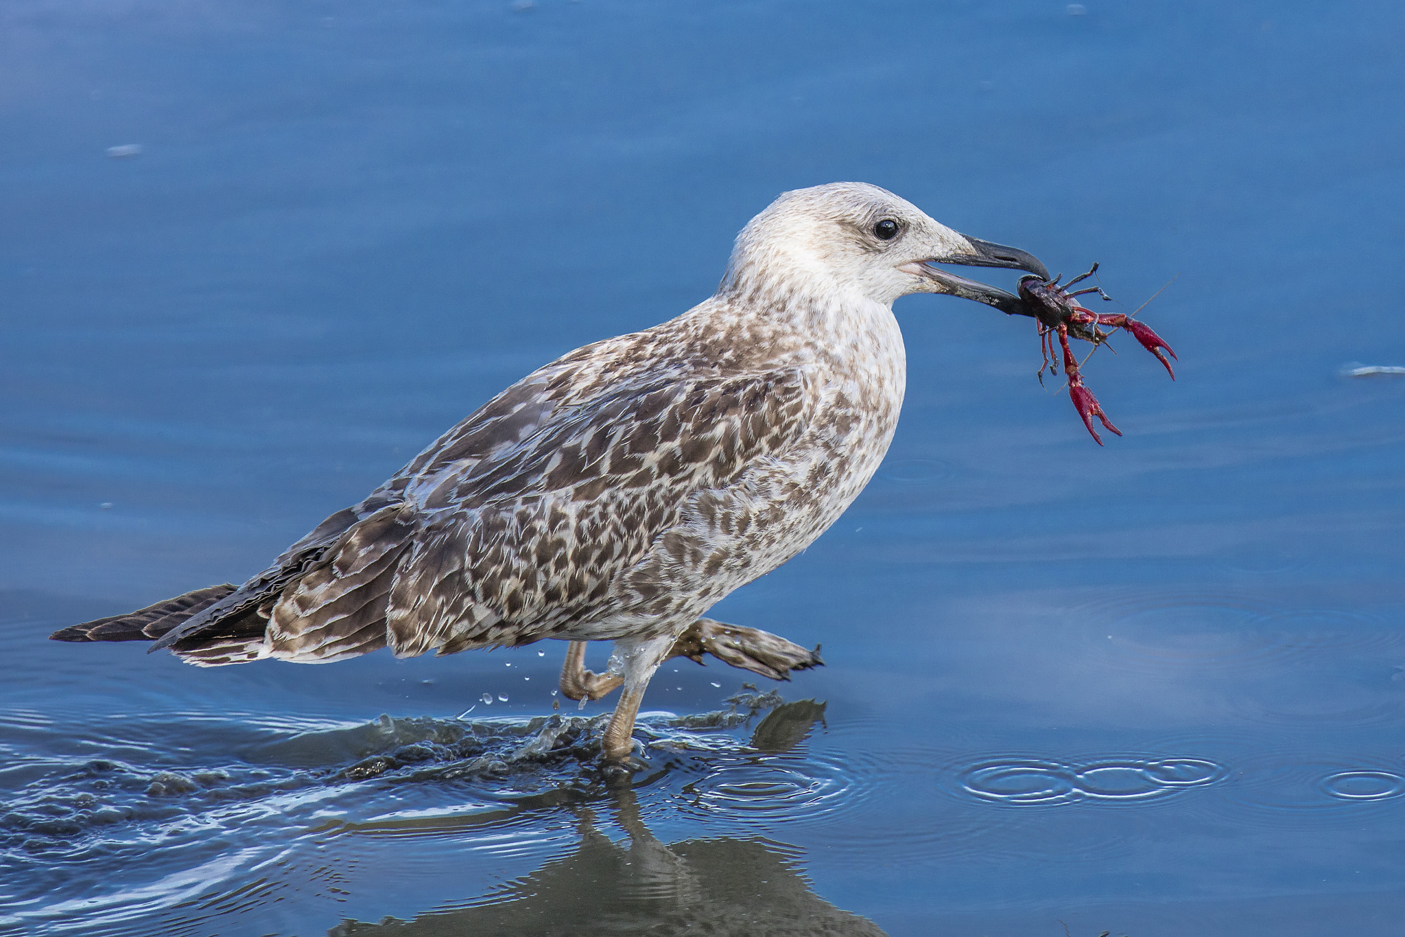
[[[596,375],[586,393],[568,364],[497,395],[156,646],[194,648],[253,612],[270,653],[309,662],[548,636],[618,611],[613,587],[688,499],[784,451],[808,420],[799,369]]]

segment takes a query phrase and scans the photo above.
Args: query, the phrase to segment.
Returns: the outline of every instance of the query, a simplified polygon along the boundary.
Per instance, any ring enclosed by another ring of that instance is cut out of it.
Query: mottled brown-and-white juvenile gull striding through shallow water
[[[906,374],[892,302],[1010,294],[930,267],[1010,267],[877,185],[785,192],[736,239],[717,292],[677,319],[577,348],[434,441],[239,589],[212,586],[59,641],[156,639],[219,666],[326,663],[570,641],[561,686],[624,686],[604,756],[629,759],[649,677],[711,652],[784,679],[819,663],[701,618],[808,546],[888,451]],[[614,641],[604,674],[587,641]]]

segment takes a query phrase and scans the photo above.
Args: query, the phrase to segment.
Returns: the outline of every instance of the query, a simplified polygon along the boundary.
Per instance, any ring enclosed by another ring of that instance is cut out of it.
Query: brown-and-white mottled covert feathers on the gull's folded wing
[[[563,412],[504,458],[441,472],[395,573],[392,648],[525,643],[618,611],[617,580],[690,497],[784,451],[806,399],[794,369],[658,381]]]

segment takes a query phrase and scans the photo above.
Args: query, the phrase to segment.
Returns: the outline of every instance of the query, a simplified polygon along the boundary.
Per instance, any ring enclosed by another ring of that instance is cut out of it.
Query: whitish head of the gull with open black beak
[[[822,292],[891,306],[939,292],[1023,312],[1020,299],[934,267],[1009,267],[1048,278],[1033,254],[957,233],[912,202],[867,183],[784,192],[736,237],[719,294],[794,296]]]

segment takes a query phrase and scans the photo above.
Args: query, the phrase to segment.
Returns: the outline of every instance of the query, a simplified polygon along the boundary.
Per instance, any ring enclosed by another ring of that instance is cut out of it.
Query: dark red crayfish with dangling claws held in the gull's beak
[[[1020,299],[1028,306],[1030,313],[1038,320],[1040,333],[1040,353],[1044,355],[1044,364],[1040,367],[1038,378],[1040,384],[1044,384],[1044,368],[1048,368],[1051,374],[1058,374],[1059,354],[1064,358],[1064,376],[1068,379],[1068,396],[1073,400],[1073,409],[1078,414],[1083,417],[1083,426],[1087,431],[1093,434],[1093,438],[1099,445],[1103,444],[1103,437],[1097,434],[1093,428],[1093,417],[1096,416],[1102,420],[1103,427],[1111,430],[1117,435],[1121,435],[1121,430],[1113,426],[1107,414],[1103,413],[1102,405],[1093,392],[1083,385],[1083,375],[1079,372],[1078,358],[1073,357],[1073,351],[1068,347],[1068,337],[1072,334],[1075,339],[1082,339],[1085,341],[1092,341],[1093,346],[1100,346],[1113,334],[1111,332],[1103,332],[1099,326],[1110,326],[1111,329],[1125,329],[1132,334],[1141,347],[1156,355],[1156,360],[1166,365],[1166,374],[1170,379],[1176,379],[1176,372],[1170,368],[1170,361],[1166,355],[1161,353],[1162,348],[1166,350],[1172,358],[1176,353],[1170,350],[1170,346],[1162,341],[1161,336],[1151,330],[1141,322],[1137,322],[1128,315],[1123,313],[1097,313],[1092,309],[1085,309],[1078,305],[1075,296],[1082,296],[1085,294],[1096,292],[1103,299],[1111,299],[1102,287],[1086,287],[1083,289],[1075,289],[1069,292],[1069,287],[1073,287],[1097,273],[1097,264],[1082,274],[1080,277],[1073,277],[1062,287],[1058,285],[1059,278],[1044,280],[1041,277],[1021,277],[1020,278]],[[1132,313],[1135,315],[1135,313]],[[1054,339],[1058,337],[1058,350],[1054,348]],[[1176,358],[1179,361],[1179,358]]]

